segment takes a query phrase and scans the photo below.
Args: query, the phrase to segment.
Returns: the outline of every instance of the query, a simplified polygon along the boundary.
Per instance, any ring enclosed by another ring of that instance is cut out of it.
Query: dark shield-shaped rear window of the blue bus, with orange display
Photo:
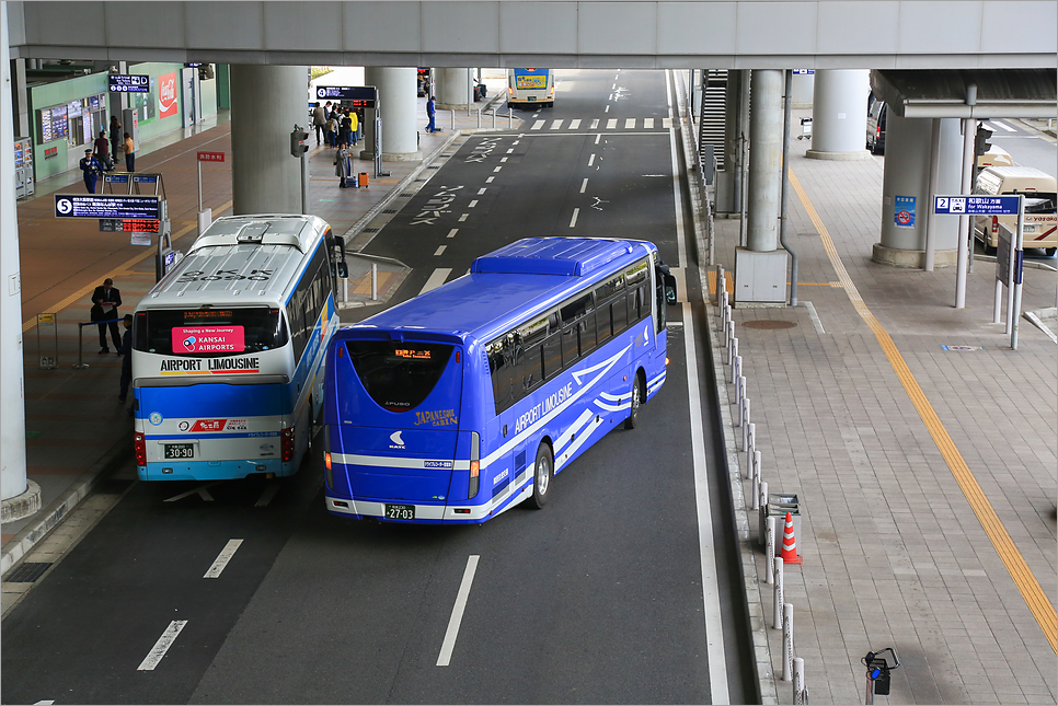
[[[445,344],[349,340],[345,347],[367,394],[390,412],[421,405],[452,355],[452,346]]]

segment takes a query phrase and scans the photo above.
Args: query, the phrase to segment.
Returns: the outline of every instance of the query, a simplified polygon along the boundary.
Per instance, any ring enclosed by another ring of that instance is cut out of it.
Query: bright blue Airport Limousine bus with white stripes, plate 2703
[[[335,334],[326,507],[473,523],[528,500],[665,382],[666,293],[646,241],[524,239]]]

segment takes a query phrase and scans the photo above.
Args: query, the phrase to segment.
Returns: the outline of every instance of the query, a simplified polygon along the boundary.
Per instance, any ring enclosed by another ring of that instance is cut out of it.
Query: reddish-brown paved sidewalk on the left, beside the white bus
[[[311,144],[309,159],[309,212],[331,223],[335,233],[349,243],[350,280],[338,292],[340,306],[371,303],[371,259],[356,251],[369,242],[372,227],[388,219],[381,211],[401,194],[414,193],[426,182],[424,171],[442,159],[460,130],[476,130],[479,124],[492,126],[493,108],[506,126],[503,94],[490,85],[485,101],[474,111],[455,114],[438,112],[441,131],[429,135],[426,100],[418,99],[417,124],[422,161],[382,164],[388,176],[376,178],[373,162],[356,158],[354,170],[368,172],[368,188],[340,189],[334,175],[333,150]],[[479,117],[479,112],[490,111]],[[519,114],[514,125],[519,124]],[[451,126],[456,130],[452,131]],[[198,165],[196,152],[231,152],[230,124],[221,113],[202,126],[162,136],[146,142],[137,152],[138,173],[161,173],[169,200],[174,247],[186,251],[197,236]],[[363,142],[360,147],[363,148]],[[131,460],[133,423],[125,405],[117,400],[122,360],[113,351],[99,355],[95,326],[84,326],[79,342],[80,322],[89,321],[92,289],[104,278],[114,279],[124,300],[120,312],[129,313],[154,286],[153,247],[130,245],[122,233],[101,233],[94,221],[58,220],[53,216],[58,192],[82,193],[80,173],[68,173],[39,182],[32,199],[19,204],[20,251],[23,281],[23,335],[25,354],[26,464],[27,479],[41,488],[42,510],[3,523],[0,574],[8,574],[31,548],[68,517],[92,488],[116,467]],[[203,165],[204,205],[214,217],[231,210],[231,163]],[[376,261],[377,262],[377,261]],[[379,301],[395,292],[406,274],[400,263],[380,263]],[[36,314],[51,312],[57,319],[57,336],[38,346]],[[39,354],[49,346],[58,350],[58,367],[43,370]],[[113,346],[113,343],[111,344]],[[72,366],[80,356],[88,368]],[[4,601],[10,586],[4,585]],[[12,589],[14,590],[14,589]],[[20,590],[24,590],[20,589]]]

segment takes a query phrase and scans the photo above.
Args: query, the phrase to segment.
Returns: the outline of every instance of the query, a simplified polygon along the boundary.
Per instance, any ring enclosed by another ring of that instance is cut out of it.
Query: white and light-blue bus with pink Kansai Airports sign
[[[219,218],[140,300],[140,479],[297,472],[322,412],[341,253],[342,239],[315,216]]]

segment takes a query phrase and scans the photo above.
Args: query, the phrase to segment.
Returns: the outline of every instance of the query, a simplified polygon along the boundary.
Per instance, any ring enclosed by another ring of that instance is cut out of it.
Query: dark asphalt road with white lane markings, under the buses
[[[686,266],[664,77],[566,72],[555,107],[525,132],[465,139],[367,248],[414,268],[393,303],[525,235],[646,238]],[[681,299],[700,301],[692,267],[687,281]],[[756,698],[715,412],[695,419],[690,404],[712,396],[705,361],[693,359],[694,375],[685,362],[703,312],[685,311],[669,309],[668,379],[640,426],[556,476],[541,511],[460,528],[353,522],[325,512],[319,458],[281,483],[135,483],[4,621],[3,703]],[[222,574],[204,578],[231,540],[242,542]],[[708,570],[703,548],[715,552]],[[718,616],[703,600],[713,580]],[[717,617],[722,640],[706,634]]]

